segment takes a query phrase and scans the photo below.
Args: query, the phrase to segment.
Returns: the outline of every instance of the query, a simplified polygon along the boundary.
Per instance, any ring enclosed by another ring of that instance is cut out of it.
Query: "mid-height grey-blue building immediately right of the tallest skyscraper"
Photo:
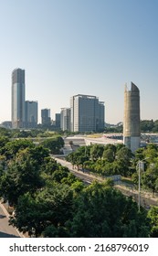
[[[37,127],[37,101],[26,101],[26,128]]]

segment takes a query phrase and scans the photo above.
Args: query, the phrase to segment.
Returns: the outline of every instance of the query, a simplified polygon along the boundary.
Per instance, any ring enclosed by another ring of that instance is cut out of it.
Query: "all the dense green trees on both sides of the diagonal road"
[[[60,152],[61,137],[34,144],[0,132],[0,197],[14,206],[10,223],[20,231],[36,237],[158,236],[156,207],[139,211],[132,197],[111,182],[86,186],[50,156]],[[67,160],[100,176],[132,177],[135,184],[143,160],[142,187],[158,191],[158,149],[153,144],[134,155],[123,144],[81,146]]]

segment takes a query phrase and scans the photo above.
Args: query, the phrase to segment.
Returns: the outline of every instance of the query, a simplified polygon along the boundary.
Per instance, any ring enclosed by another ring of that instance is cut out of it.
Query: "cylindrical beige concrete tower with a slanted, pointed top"
[[[140,143],[140,91],[132,83],[130,91],[127,85],[124,90],[123,144],[134,152],[140,147]]]

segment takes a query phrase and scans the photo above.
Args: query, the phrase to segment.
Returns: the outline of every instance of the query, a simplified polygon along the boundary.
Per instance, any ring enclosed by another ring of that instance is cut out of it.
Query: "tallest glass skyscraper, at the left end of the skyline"
[[[12,127],[25,126],[25,70],[12,72]]]

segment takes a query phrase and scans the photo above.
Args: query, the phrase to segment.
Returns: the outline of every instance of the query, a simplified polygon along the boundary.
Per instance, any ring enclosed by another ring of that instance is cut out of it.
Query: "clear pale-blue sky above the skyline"
[[[157,0],[0,0],[0,123],[11,119],[11,73],[51,117],[75,94],[123,120],[124,84],[140,89],[141,119],[158,119]]]

